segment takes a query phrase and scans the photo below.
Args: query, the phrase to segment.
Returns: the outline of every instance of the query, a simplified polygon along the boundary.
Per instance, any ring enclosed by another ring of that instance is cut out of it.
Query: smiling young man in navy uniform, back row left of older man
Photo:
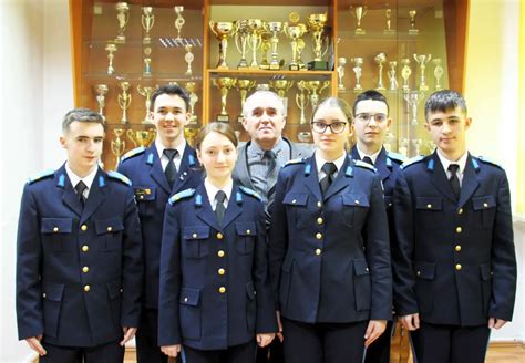
[[[189,122],[189,96],[178,85],[165,85],[152,95],[157,136],[148,148],[122,158],[119,172],[133,183],[144,240],[144,307],[136,336],[137,361],[167,362],[157,343],[158,270],[164,209],[169,196],[195,187],[202,179],[195,151],[184,138]]]

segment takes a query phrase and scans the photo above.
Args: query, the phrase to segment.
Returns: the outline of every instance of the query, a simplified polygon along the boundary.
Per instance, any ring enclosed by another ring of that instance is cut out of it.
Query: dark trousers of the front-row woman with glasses
[[[302,323],[281,318],[286,363],[362,362],[368,322]]]

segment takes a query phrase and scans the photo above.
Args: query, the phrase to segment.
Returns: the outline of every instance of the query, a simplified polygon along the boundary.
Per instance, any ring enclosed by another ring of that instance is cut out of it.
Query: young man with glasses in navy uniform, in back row
[[[352,132],[356,145],[351,156],[373,165],[381,177],[384,191],[384,207],[389,218],[390,241],[395,237],[392,216],[392,195],[395,175],[405,160],[402,155],[387,152],[384,136],[392,120],[389,116],[387,97],[374,90],[364,91],[353,102]],[[366,363],[389,363],[390,340],[393,322],[389,321],[387,330],[367,349]]]

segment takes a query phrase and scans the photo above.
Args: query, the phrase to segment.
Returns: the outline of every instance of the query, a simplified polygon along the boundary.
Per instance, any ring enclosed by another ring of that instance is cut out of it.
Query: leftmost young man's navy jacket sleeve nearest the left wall
[[[42,245],[34,196],[25,185],[17,237],[17,321],[19,339],[44,333],[40,273]]]

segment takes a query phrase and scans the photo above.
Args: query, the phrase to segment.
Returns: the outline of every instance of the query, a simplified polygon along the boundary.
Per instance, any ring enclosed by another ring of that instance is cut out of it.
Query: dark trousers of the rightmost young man
[[[418,363],[483,363],[491,330],[421,323],[410,333]]]

